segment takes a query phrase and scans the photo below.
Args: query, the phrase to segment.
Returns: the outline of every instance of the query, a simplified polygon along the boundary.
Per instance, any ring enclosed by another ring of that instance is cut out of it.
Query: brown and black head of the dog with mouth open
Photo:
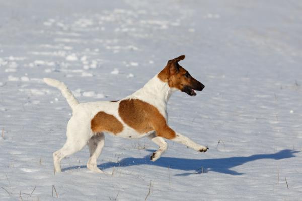
[[[195,90],[203,90],[204,85],[178,64],[179,61],[184,59],[185,55],[182,55],[169,60],[166,67],[158,74],[158,77],[163,82],[167,82],[169,87],[186,92],[190,96],[196,96]]]

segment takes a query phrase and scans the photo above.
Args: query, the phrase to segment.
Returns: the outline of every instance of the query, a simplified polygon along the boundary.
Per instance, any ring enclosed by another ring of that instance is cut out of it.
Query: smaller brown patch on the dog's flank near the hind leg
[[[123,124],[113,115],[105,112],[98,112],[91,120],[91,130],[94,133],[103,131],[112,132],[114,134],[123,131]]]

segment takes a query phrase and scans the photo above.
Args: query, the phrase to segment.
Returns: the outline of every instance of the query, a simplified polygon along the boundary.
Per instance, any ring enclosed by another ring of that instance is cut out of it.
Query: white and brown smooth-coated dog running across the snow
[[[46,84],[61,90],[72,109],[68,121],[64,146],[53,153],[54,171],[61,172],[61,160],[80,151],[87,144],[90,156],[87,168],[104,173],[97,167],[97,159],[104,147],[104,133],[138,139],[148,137],[159,149],[150,156],[156,161],[167,150],[165,139],[206,152],[208,147],[199,145],[171,129],[167,123],[167,102],[175,91],[195,96],[204,85],[194,79],[178,64],[184,55],[169,60],[165,68],[149,80],[141,89],[119,101],[79,103],[68,87],[58,80],[44,78]]]

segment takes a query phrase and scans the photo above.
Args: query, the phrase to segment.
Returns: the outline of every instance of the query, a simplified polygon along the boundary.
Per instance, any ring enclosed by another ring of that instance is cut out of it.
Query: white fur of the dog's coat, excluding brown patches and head
[[[124,123],[124,121],[118,114],[120,101],[101,101],[79,104],[77,99],[74,98],[73,94],[64,83],[50,78],[44,78],[44,81],[48,85],[60,89],[63,96],[67,99],[68,104],[73,110],[73,115],[67,124],[67,141],[60,150],[53,153],[55,172],[61,171],[60,162],[64,157],[80,151],[87,144],[90,151],[87,168],[94,172],[103,173],[103,171],[101,171],[97,167],[97,159],[104,147],[105,137],[103,133],[94,135],[91,130],[91,119],[93,119],[93,117],[99,111],[104,111],[115,116],[123,124],[123,131],[117,133],[116,136],[123,138],[129,138],[130,136],[131,138],[142,138],[148,136],[154,143],[159,145],[159,149],[154,152],[151,157],[152,161],[159,159],[160,156],[167,150],[168,144],[166,143],[164,138],[156,136],[154,131],[141,135],[140,133],[137,133],[134,129],[129,127],[126,123]],[[167,102],[172,93],[176,90],[177,89],[170,88],[168,83],[162,82],[156,75],[151,80],[149,80],[141,89],[137,90],[130,96],[125,97],[124,99],[140,99],[142,101],[145,101],[155,106],[167,120]],[[177,133],[177,137],[172,140],[178,143],[182,143],[197,151],[207,149],[205,146],[198,145],[189,138],[180,135],[179,133]]]

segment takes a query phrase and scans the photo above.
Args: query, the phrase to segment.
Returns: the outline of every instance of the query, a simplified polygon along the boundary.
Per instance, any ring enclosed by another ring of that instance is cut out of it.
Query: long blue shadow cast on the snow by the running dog
[[[155,150],[148,150],[150,152],[154,152]],[[134,165],[154,165],[160,166],[170,169],[184,170],[189,171],[182,174],[177,174],[177,176],[185,176],[196,173],[207,173],[211,172],[219,172],[223,174],[231,174],[231,175],[241,175],[243,173],[236,172],[231,170],[231,168],[240,166],[244,163],[260,160],[260,159],[286,159],[295,157],[295,153],[299,151],[295,150],[281,150],[279,152],[273,154],[255,154],[251,156],[239,156],[239,157],[229,157],[229,158],[217,158],[217,159],[185,159],[185,158],[172,158],[172,157],[161,157],[155,162],[150,161],[150,155],[147,155],[143,158],[124,158],[119,162],[107,162],[98,165],[101,170],[105,170],[113,167],[127,167]],[[69,168],[63,169],[79,169],[86,168],[86,166],[73,166]]]

